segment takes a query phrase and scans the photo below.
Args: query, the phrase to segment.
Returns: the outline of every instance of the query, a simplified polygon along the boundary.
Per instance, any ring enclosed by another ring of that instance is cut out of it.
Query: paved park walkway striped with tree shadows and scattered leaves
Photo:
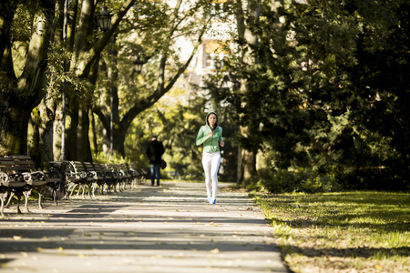
[[[288,272],[246,193],[163,182],[0,218],[2,272]],[[33,207],[33,201],[31,201]]]

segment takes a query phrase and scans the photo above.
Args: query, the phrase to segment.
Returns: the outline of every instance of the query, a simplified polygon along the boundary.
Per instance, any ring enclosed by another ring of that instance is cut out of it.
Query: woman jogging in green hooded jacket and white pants
[[[205,171],[205,186],[210,204],[216,203],[220,147],[225,146],[225,142],[222,140],[222,128],[219,125],[218,115],[211,111],[207,115],[205,125],[200,126],[197,136],[197,146],[203,144],[202,165]]]

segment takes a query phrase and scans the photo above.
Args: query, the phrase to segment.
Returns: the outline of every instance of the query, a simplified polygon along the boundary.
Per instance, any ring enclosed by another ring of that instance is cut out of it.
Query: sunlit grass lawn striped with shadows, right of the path
[[[410,272],[410,194],[252,197],[293,272]]]

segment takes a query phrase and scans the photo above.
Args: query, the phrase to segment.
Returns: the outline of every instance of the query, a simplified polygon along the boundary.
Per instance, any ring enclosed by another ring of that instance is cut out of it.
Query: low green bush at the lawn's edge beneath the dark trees
[[[295,171],[260,169],[257,175],[251,177],[247,185],[250,190],[275,194],[318,193],[339,189],[333,176],[302,168]]]

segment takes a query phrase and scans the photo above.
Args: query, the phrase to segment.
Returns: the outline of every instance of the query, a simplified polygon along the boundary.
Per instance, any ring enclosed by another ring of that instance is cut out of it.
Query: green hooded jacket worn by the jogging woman
[[[208,137],[208,134],[211,131],[210,125],[208,124],[208,116],[210,116],[210,114],[215,114],[217,116],[217,124],[213,132],[213,136]],[[220,118],[215,112],[211,111],[210,113],[208,113],[205,119],[205,123],[206,125],[200,126],[200,131],[198,132],[197,136],[197,146],[203,144],[203,151],[207,153],[219,152],[220,141],[222,141],[222,128],[219,126]]]

